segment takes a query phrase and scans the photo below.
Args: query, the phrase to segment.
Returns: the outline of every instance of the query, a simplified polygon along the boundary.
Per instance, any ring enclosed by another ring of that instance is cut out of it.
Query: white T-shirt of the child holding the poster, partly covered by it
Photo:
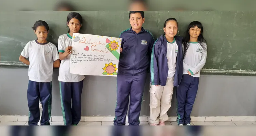
[[[58,40],[58,49],[59,52],[64,53],[65,49],[72,44],[72,36],[68,33],[59,36]],[[69,73],[70,69],[70,55],[69,54],[65,60],[61,61],[59,67],[59,78],[61,82],[80,82],[84,79],[84,75],[71,74]]]

